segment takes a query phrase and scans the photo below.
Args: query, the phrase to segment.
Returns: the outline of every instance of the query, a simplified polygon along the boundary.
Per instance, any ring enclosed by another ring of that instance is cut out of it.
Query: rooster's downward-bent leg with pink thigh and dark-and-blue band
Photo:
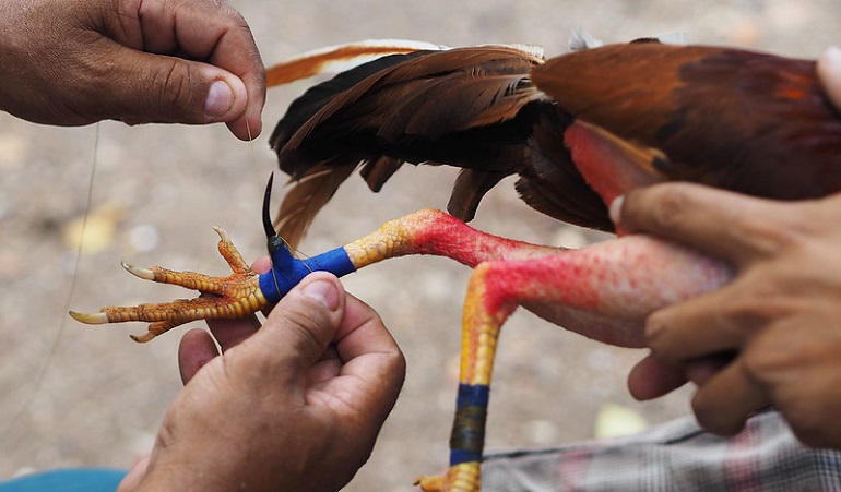
[[[632,276],[629,273],[632,272]],[[562,308],[555,322],[584,334],[639,329],[653,310],[726,283],[725,265],[684,248],[627,237],[581,250],[477,265],[462,317],[462,349],[450,468],[422,477],[424,491],[479,489],[494,358],[500,327],[518,305]],[[566,311],[564,311],[566,310]]]

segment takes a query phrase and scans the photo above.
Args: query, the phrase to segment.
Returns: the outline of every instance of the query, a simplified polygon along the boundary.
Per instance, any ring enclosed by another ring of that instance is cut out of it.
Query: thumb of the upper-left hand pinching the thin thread
[[[245,83],[224,69],[117,44],[112,50],[114,70],[97,85],[111,99],[100,107],[115,112],[103,117],[129,124],[205,124],[234,121],[246,112]]]

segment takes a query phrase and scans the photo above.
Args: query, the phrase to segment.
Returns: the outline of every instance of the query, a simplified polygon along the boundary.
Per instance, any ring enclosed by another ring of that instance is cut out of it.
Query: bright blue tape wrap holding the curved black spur
[[[270,244],[272,269],[260,275],[260,290],[269,302],[277,302],[312,272],[330,272],[342,277],[356,272],[344,248],[336,248],[318,256],[299,260],[289,253],[285,244]]]

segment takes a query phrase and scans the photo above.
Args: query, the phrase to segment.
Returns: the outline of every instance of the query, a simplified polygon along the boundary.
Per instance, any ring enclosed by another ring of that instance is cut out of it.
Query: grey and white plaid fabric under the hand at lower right
[[[797,442],[775,411],[723,439],[683,418],[628,437],[488,454],[489,491],[841,491],[841,452]]]

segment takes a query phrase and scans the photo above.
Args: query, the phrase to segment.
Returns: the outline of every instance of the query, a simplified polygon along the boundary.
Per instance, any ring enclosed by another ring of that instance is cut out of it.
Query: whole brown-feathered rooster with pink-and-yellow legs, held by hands
[[[813,61],[653,40],[548,61],[524,46],[366,49],[340,47],[270,70],[270,83],[285,82],[359,53],[380,56],[309,89],[275,129],[271,142],[281,169],[296,181],[281,207],[280,237],[296,243],[359,166],[374,191],[404,163],[462,168],[448,206],[452,215],[420,211],[305,261],[288,253],[264,217],[271,272],[251,272],[218,230],[230,277],[127,265],[142,278],[198,288],[198,299],[74,317],[149,321],[141,339],[150,339],[193,319],[261,309],[310,269],[341,275],[405,254],[466,264],[474,273],[462,320],[451,467],[445,477],[419,479],[427,491],[479,487],[496,340],[518,305],[595,339],[640,346],[650,312],[732,276],[714,259],[647,237],[565,250],[466,226],[500,179],[519,176],[520,196],[533,208],[603,230],[613,230],[606,204],[659,181],[774,199],[841,189],[841,116],[822,94]],[[240,290],[232,293],[235,284]]]

